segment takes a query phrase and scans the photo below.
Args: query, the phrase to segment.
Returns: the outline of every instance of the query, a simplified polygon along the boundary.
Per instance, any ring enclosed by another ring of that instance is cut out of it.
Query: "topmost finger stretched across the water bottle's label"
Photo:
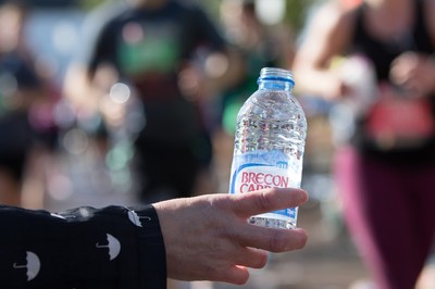
[[[235,194],[234,197],[234,211],[243,217],[295,208],[308,200],[307,192],[296,188],[273,188]]]

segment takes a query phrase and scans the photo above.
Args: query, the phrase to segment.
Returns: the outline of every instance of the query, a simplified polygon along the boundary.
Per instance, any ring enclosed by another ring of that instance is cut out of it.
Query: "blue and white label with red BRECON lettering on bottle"
[[[233,159],[229,193],[246,193],[266,188],[300,187],[297,163],[281,151],[254,151]],[[271,212],[282,219],[296,218],[296,209]]]

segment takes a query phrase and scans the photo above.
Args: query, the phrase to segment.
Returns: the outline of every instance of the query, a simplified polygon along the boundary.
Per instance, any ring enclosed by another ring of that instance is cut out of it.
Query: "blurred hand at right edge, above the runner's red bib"
[[[435,61],[423,54],[406,52],[393,63],[389,72],[390,80],[414,96],[435,92]]]

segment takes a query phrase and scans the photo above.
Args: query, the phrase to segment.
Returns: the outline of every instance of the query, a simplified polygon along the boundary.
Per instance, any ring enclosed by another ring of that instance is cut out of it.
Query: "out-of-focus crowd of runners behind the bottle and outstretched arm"
[[[433,1],[313,1],[302,29],[287,1],[179,2],[1,1],[0,203],[226,192],[237,112],[262,67],[288,68],[309,123],[302,187],[348,226],[371,273],[358,288],[414,288],[435,231]]]

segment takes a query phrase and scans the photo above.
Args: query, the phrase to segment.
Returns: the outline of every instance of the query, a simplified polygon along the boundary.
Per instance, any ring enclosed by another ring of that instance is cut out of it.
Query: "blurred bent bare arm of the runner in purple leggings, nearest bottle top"
[[[353,15],[350,10],[331,2],[320,8],[308,25],[293,65],[296,89],[328,100],[339,98],[345,87],[330,64],[333,56],[345,52],[350,41]]]

